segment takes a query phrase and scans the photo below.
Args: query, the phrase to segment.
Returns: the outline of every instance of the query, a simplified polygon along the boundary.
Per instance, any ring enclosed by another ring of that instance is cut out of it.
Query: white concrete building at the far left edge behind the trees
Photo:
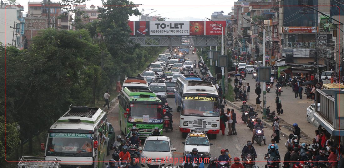
[[[0,42],[2,45],[9,44],[19,49],[24,48],[25,19],[23,18],[23,10],[24,7],[20,4],[17,6],[6,3],[0,5],[0,16],[5,19],[0,22],[0,26],[3,28],[0,32]]]

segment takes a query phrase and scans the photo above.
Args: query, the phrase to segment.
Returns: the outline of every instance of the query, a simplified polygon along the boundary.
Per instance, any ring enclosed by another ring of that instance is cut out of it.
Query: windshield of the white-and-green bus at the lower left
[[[46,156],[92,157],[92,134],[50,133]]]

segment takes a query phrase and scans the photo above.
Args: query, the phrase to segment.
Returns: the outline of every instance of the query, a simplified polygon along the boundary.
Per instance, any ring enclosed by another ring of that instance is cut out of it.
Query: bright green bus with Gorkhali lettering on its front
[[[126,87],[119,95],[119,126],[127,135],[136,124],[140,139],[145,139],[155,127],[162,133],[163,106],[157,95],[148,88]]]

